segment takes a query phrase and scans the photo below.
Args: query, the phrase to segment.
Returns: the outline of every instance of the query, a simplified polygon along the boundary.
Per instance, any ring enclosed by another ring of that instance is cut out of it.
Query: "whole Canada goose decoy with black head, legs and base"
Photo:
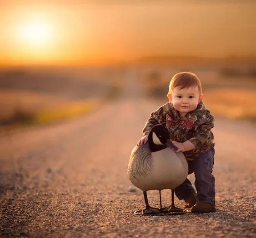
[[[166,127],[156,125],[149,133],[148,143],[135,146],[132,150],[127,173],[131,183],[143,191],[146,209],[142,210],[142,214],[185,212],[174,205],[173,189],[181,185],[188,175],[185,156],[182,152],[175,152],[177,149],[171,143]],[[161,205],[162,189],[171,189],[171,206],[166,208]],[[160,209],[149,205],[148,190],[159,190]]]

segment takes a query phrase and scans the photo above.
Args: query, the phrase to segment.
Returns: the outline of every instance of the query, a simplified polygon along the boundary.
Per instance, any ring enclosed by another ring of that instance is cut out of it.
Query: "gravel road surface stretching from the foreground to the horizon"
[[[216,213],[133,214],[144,199],[140,190],[129,192],[127,164],[160,106],[140,97],[134,74],[123,98],[89,115],[0,137],[1,237],[256,236],[256,127],[247,122],[216,117]],[[159,205],[157,191],[148,198]],[[170,190],[162,201],[171,203]]]

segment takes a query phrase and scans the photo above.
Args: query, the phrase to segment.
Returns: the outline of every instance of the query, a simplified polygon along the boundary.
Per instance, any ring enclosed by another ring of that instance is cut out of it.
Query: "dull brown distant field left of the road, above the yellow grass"
[[[67,99],[109,97],[119,87],[122,69],[37,67],[0,70],[0,88],[44,93]]]

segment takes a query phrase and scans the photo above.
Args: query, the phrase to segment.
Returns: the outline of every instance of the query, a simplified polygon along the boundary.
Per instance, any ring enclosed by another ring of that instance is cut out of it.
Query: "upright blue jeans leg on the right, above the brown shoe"
[[[196,201],[215,204],[215,178],[211,174],[214,165],[214,147],[197,156],[193,162],[196,177]]]

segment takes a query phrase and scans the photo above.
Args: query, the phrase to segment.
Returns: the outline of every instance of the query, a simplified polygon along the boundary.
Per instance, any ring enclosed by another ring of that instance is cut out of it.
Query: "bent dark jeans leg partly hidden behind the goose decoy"
[[[187,163],[188,163],[188,174],[191,174],[194,171],[193,161],[187,161]],[[181,185],[179,185],[178,187],[176,187],[176,189],[174,189],[174,192],[177,198],[179,200],[182,200],[188,197],[189,195],[194,194],[195,190],[191,184],[191,181],[186,178],[186,180]]]

